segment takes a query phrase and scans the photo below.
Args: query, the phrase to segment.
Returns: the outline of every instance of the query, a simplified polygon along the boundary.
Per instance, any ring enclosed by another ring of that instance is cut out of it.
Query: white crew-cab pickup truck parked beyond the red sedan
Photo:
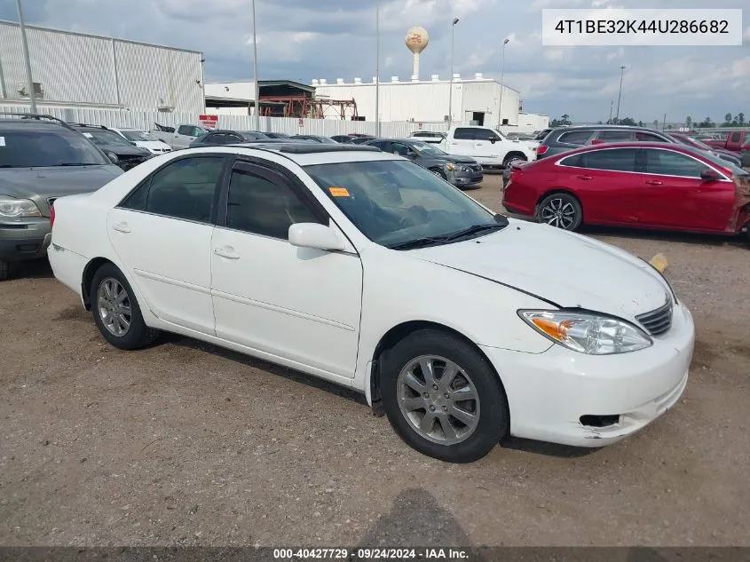
[[[506,168],[513,161],[536,160],[538,142],[509,139],[489,127],[451,127],[438,147],[448,154],[470,156],[485,168]]]

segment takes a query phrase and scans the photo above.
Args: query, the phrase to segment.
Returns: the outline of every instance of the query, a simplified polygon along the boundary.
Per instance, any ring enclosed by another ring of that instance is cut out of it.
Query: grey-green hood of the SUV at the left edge
[[[0,170],[0,194],[28,199],[87,194],[122,174],[114,164]]]

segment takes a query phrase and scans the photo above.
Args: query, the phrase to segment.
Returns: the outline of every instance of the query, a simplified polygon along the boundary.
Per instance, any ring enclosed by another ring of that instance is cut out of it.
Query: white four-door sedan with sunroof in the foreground
[[[373,147],[163,154],[51,222],[55,276],[110,344],[176,332],[350,386],[445,461],[614,443],[687,384],[691,313],[654,268]]]

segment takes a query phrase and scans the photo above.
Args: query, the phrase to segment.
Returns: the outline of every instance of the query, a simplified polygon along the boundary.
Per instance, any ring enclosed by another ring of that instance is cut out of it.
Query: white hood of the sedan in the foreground
[[[628,320],[659,308],[669,297],[667,285],[651,265],[628,252],[552,226],[513,219],[493,234],[409,253],[560,307]]]

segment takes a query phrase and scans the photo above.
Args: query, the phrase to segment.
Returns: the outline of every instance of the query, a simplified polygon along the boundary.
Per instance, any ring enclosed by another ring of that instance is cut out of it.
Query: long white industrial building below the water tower
[[[336,83],[320,79],[313,80],[312,85],[316,98],[354,99],[359,115],[364,115],[367,121],[375,121],[375,77],[372,82],[355,78],[353,83],[345,83],[342,78]],[[399,76],[391,76],[390,82],[381,78],[378,91],[381,121],[445,123],[450,103],[453,123],[515,127],[521,109],[518,91],[482,73],[472,77],[454,74],[453,82],[446,78],[441,80],[439,75],[424,81],[415,77],[402,81]]]

